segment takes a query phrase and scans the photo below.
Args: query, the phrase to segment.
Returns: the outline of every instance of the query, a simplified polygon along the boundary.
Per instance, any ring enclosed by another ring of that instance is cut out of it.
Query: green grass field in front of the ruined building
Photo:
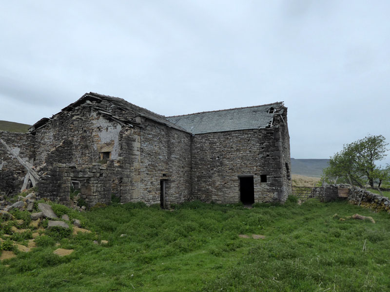
[[[93,233],[56,239],[75,249],[70,256],[54,255],[58,247],[46,236],[31,252],[3,261],[0,291],[390,291],[390,216],[345,201],[54,209]],[[376,223],[340,221],[335,213]]]

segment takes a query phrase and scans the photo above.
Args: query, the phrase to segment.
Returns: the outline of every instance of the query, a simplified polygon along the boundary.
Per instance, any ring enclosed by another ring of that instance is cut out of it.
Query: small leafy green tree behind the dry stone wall
[[[324,169],[324,177],[327,181],[334,180],[336,183],[350,183],[361,187],[368,182],[373,188],[375,180],[382,183],[389,175],[386,169],[375,164],[386,156],[388,145],[382,135],[369,135],[344,145],[343,150],[331,157],[329,167]]]

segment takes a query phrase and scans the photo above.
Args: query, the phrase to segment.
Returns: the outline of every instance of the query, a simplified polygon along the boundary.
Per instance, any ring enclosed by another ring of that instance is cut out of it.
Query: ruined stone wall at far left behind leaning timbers
[[[34,138],[27,133],[0,131],[0,138],[24,161],[34,164]],[[0,192],[20,191],[27,170],[0,143]]]

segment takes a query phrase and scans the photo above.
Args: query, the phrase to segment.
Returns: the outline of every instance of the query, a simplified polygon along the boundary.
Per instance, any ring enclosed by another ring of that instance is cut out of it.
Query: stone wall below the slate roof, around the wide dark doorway
[[[254,201],[285,201],[278,128],[197,134],[192,138],[192,192],[195,199],[240,201],[239,176],[254,177]],[[267,175],[261,183],[260,175]]]

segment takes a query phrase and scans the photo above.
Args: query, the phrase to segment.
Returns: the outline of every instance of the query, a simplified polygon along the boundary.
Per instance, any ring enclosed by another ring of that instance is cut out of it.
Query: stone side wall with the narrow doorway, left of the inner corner
[[[191,135],[143,119],[140,129],[139,199],[160,203],[160,180],[165,180],[166,203],[191,198]],[[137,162],[135,162],[137,164]]]

